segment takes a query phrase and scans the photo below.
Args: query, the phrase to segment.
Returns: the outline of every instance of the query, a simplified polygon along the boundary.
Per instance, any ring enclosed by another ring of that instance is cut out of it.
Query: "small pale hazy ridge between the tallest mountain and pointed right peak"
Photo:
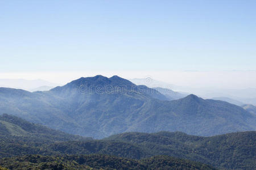
[[[154,87],[153,89],[159,91],[161,94],[166,96],[168,100],[177,100],[188,95],[185,93],[172,91],[169,88]]]

